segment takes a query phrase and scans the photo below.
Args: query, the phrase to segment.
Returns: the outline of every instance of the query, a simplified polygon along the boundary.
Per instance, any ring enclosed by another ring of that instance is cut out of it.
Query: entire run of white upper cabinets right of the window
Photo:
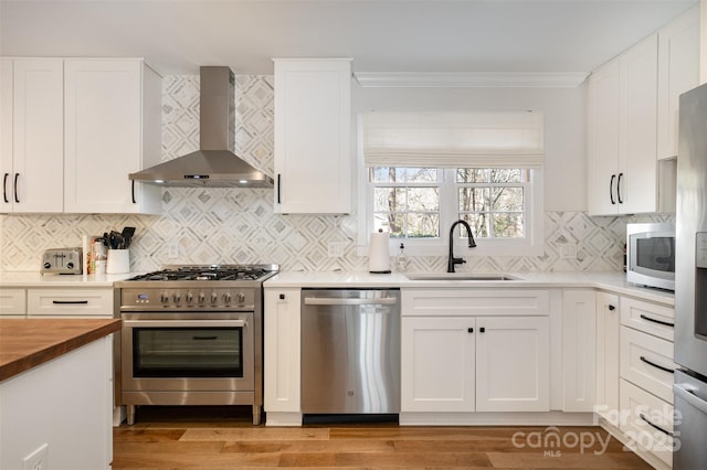
[[[656,159],[677,156],[679,95],[698,85],[698,17],[687,11],[590,76],[590,215],[661,210]]]

